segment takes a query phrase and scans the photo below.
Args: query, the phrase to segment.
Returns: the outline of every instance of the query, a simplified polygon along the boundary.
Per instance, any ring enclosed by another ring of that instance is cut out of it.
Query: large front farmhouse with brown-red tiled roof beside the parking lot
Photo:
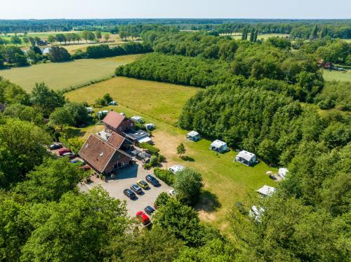
[[[106,138],[106,137],[105,137]],[[116,133],[106,140],[103,136],[90,135],[78,155],[98,174],[113,174],[131,163],[128,141]]]

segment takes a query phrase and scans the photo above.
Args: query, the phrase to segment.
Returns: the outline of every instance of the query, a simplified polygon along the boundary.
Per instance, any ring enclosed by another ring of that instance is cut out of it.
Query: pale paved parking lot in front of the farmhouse
[[[119,170],[117,172],[116,179],[109,179],[105,182],[97,177],[91,177],[93,182],[91,184],[81,185],[81,190],[87,191],[93,186],[101,185],[102,188],[105,188],[105,190],[110,193],[112,197],[120,200],[126,200],[128,214],[130,216],[135,216],[136,212],[138,211],[144,212],[144,208],[147,205],[153,207],[154,201],[159,193],[168,192],[171,190],[170,186],[167,186],[163,181],[158,179],[161,186],[155,187],[148,183],[150,188],[147,190],[143,189],[143,193],[141,195],[135,194],[137,197],[133,200],[127,198],[123,193],[124,189],[129,188],[131,184],[135,184],[138,180],[143,179],[145,181],[145,176],[147,174],[152,174],[152,170],[144,170],[141,163],[136,163],[135,165],[130,165]]]

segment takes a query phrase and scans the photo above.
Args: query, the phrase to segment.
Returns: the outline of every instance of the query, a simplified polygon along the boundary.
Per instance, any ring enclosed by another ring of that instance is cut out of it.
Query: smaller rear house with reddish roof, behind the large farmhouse
[[[123,132],[129,129],[134,129],[135,124],[133,120],[126,118],[126,116],[121,115],[115,111],[110,111],[105,116],[103,123],[107,130],[116,132],[119,135],[122,135]]]

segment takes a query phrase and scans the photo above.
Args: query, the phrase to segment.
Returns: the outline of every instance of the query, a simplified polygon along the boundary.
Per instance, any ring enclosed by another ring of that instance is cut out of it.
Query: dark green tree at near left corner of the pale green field
[[[65,104],[65,97],[60,92],[50,90],[45,83],[36,83],[32,90],[31,102],[48,118],[56,107]]]

